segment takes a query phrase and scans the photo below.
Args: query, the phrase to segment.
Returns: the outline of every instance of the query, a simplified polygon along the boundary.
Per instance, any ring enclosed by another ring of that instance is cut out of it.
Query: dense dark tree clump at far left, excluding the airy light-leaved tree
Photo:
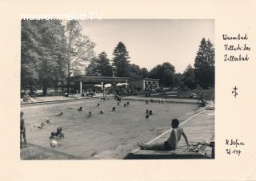
[[[64,79],[64,26],[58,20],[22,20],[22,88],[47,88]]]

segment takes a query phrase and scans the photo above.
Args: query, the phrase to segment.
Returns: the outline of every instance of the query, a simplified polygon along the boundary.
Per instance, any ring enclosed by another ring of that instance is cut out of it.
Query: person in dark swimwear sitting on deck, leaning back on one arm
[[[178,119],[171,120],[172,130],[170,132],[170,137],[162,144],[144,144],[143,142],[138,143],[138,146],[141,149],[145,150],[162,150],[162,151],[175,151],[177,149],[178,141],[181,139],[181,136],[184,137],[186,144],[189,145],[186,134],[182,128],[178,128],[179,121]]]

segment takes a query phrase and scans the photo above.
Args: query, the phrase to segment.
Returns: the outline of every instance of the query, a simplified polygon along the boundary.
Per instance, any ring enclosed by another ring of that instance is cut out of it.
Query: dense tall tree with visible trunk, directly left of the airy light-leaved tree
[[[49,87],[58,87],[66,72],[66,37],[64,26],[59,20],[37,21],[40,44],[39,54],[39,83],[42,85],[43,96]]]

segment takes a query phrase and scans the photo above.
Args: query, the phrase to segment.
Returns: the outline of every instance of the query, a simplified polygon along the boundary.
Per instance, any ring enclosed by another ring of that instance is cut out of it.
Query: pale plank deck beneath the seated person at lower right
[[[190,116],[187,120],[180,124],[186,132],[186,136],[190,144],[214,140],[214,110],[213,107],[198,112],[194,116]],[[160,144],[168,139],[172,129],[163,132],[161,135],[148,141],[146,144]],[[178,143],[176,151],[153,151],[141,150],[140,148],[132,151],[126,156],[126,159],[207,159],[211,156],[212,150],[202,152],[187,152],[186,142],[183,138]]]

